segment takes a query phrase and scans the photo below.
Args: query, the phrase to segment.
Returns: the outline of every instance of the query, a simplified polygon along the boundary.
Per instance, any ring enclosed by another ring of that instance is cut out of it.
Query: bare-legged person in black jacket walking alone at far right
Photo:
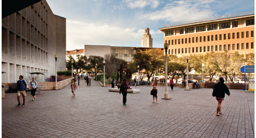
[[[225,94],[227,94],[228,96],[230,95],[229,89],[226,86],[226,84],[224,84],[224,82],[225,82],[224,78],[220,78],[219,83],[216,83],[213,87],[213,96],[215,96],[218,101],[217,114],[216,114],[217,116],[220,116],[222,114],[220,109],[221,109],[222,101],[225,98]]]

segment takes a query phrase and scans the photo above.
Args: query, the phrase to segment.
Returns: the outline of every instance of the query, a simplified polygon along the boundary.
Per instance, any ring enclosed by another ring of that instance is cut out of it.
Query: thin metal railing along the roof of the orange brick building
[[[165,27],[177,26],[177,25],[188,24],[188,23],[205,22],[205,21],[211,21],[211,20],[219,20],[219,19],[224,19],[224,18],[231,18],[231,17],[236,17],[236,16],[245,16],[245,15],[252,15],[252,14],[255,14],[255,11],[242,12],[242,13],[236,13],[236,14],[231,14],[231,15],[223,15],[223,16],[206,18],[206,19],[201,19],[201,20],[166,24]]]

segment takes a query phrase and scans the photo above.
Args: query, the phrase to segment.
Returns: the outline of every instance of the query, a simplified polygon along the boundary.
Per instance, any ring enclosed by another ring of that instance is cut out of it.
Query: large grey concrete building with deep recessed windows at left
[[[2,83],[12,83],[25,72],[48,72],[66,66],[66,18],[54,15],[46,0],[42,0],[2,18],[1,70]],[[39,75],[43,79],[43,76]]]

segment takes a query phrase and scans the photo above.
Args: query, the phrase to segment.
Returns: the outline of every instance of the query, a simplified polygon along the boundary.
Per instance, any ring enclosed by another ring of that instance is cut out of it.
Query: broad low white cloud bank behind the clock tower
[[[161,31],[150,30],[151,34]],[[84,45],[141,46],[144,29],[112,27],[102,23],[66,20],[67,50],[82,49]]]

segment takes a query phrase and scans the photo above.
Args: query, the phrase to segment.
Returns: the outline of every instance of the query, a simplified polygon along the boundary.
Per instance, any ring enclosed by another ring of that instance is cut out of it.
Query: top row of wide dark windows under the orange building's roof
[[[219,24],[219,29],[226,29],[226,28],[231,28],[231,22],[227,22],[227,23],[220,23]],[[246,26],[252,26],[255,25],[255,19],[253,20],[246,20]],[[236,22],[232,22],[232,27],[238,27],[238,21]],[[194,27],[192,28],[186,28],[185,29],[185,33],[194,33]],[[212,25],[208,25],[207,26],[208,31],[211,30],[217,30],[218,29],[218,24],[212,24]],[[203,32],[206,31],[206,26],[200,26],[200,27],[196,27],[196,32]],[[180,34],[184,34],[184,29],[180,29]],[[170,36],[170,35],[174,35],[174,30],[172,31],[166,31],[165,32],[165,36]]]

